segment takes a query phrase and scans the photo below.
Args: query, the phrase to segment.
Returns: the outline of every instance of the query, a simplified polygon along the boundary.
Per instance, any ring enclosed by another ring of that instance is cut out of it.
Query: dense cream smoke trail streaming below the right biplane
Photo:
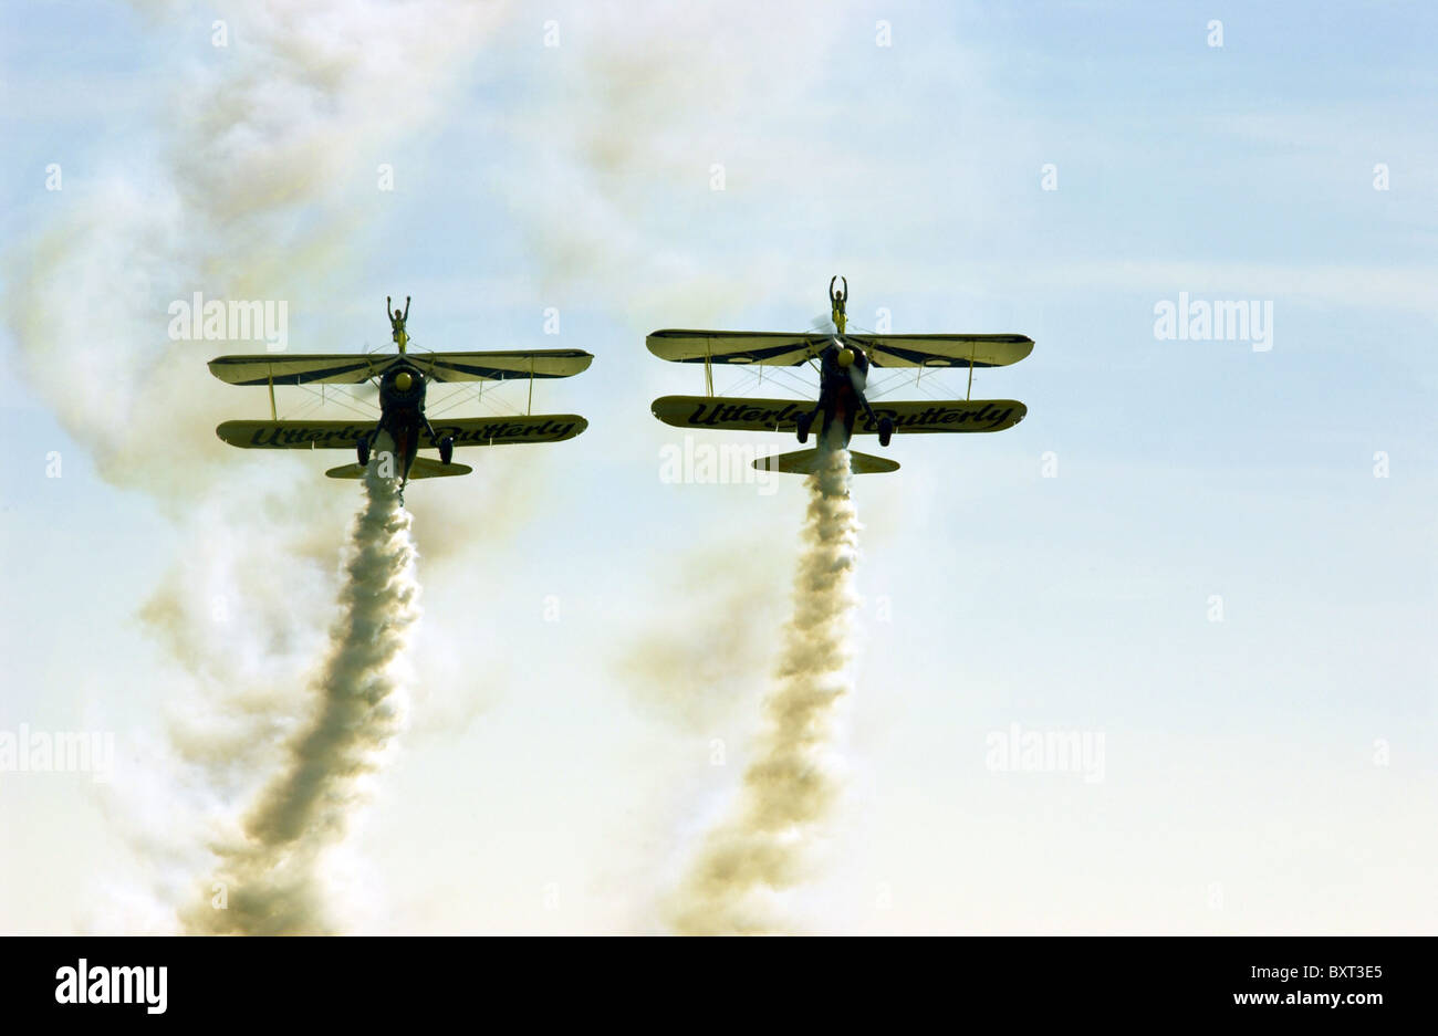
[[[766,727],[743,774],[736,816],[712,831],[680,885],[670,921],[684,934],[775,931],[759,902],[804,875],[807,835],[824,820],[837,783],[824,766],[835,703],[850,690],[850,625],[858,520],[848,497],[848,451],[821,450],[810,480],[805,549],[784,631]]]

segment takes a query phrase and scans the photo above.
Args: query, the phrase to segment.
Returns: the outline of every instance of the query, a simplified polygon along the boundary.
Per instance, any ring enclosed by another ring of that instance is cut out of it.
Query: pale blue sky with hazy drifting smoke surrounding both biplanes
[[[896,435],[856,480],[844,792],[792,930],[1438,927],[1428,6],[3,19],[0,733],[108,733],[114,766],[0,772],[0,930],[173,930],[308,707],[355,484],[214,437],[267,401],[204,368],[253,343],[168,336],[203,292],[285,300],[292,352],[383,348],[413,296],[417,348],[595,355],[535,389],[584,435],[407,494],[408,729],[331,879],[354,931],[663,931],[759,721],[804,489],[666,481],[684,433],[649,404],[702,374],[644,335],[805,330],[833,274],[853,328],[1035,348],[974,378],[1018,427]],[[1181,299],[1271,333],[1160,336]],[[525,405],[464,391],[431,412]],[[313,404],[280,392],[351,415]],[[1027,766],[1027,734],[1090,750]]]

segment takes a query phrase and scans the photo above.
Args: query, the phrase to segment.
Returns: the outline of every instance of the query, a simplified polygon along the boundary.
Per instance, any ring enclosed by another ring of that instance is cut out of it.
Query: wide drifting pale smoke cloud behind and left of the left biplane
[[[505,17],[460,0],[266,0],[230,4],[213,23],[224,39],[196,49],[211,26],[203,6],[132,6],[147,42],[168,45],[150,52],[173,56],[145,79],[168,86],[122,125],[122,148],[85,155],[88,174],[37,198],[0,250],[14,371],[101,478],[174,526],[174,560],[139,606],[168,654],[145,681],[145,716],[164,729],[134,734],[148,766],[106,803],[129,852],[102,881],[122,888],[85,911],[106,931],[171,930],[214,865],[197,846],[285,757],[351,509],[305,460],[262,470],[216,438],[219,420],[257,399],[204,361],[265,346],[173,341],[168,307],[194,292],[283,302],[305,351],[339,348],[316,318],[365,283],[358,246],[393,218],[374,172],[424,182],[424,148],[407,144],[449,112]]]

